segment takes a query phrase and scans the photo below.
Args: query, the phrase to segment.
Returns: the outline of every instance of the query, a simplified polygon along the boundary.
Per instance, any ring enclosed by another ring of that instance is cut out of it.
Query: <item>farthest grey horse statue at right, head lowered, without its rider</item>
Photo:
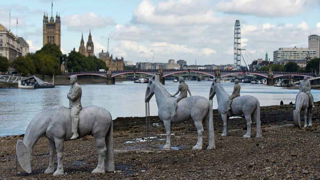
[[[293,122],[296,127],[301,128],[300,124],[300,111],[303,111],[303,119],[304,119],[304,127],[307,127],[307,121],[308,126],[312,126],[312,110],[313,108],[310,105],[309,102],[309,96],[304,93],[300,92],[296,97],[295,102],[295,110],[293,110]]]

